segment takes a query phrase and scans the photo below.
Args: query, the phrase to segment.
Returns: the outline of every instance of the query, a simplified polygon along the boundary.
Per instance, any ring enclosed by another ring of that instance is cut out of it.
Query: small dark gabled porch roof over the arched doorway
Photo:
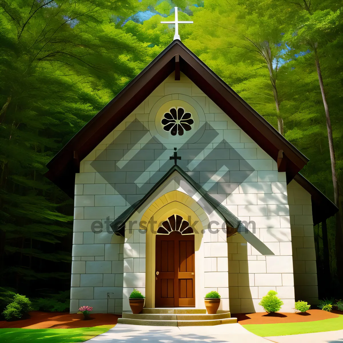
[[[113,232],[118,236],[125,237],[125,223],[131,217],[131,215],[135,211],[137,211],[147,199],[149,199],[149,197],[157,190],[157,188],[161,186],[163,182],[166,181],[171,174],[174,173],[174,171],[177,171],[211,205],[213,210],[216,210],[223,217],[226,223],[228,236],[235,234],[241,221],[218,200],[211,197],[210,194],[208,194],[196,181],[194,181],[178,165],[174,165],[173,167],[171,167],[166,172],[166,174],[159,181],[156,182],[156,184],[150,189],[150,191],[145,194],[145,196],[141,200],[131,205],[125,212],[120,214],[114,220],[113,223],[110,224]]]

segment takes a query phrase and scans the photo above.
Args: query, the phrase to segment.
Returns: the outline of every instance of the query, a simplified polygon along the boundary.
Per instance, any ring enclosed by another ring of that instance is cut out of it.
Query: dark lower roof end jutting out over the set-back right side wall
[[[313,224],[317,225],[338,212],[338,207],[303,175],[297,173],[294,180],[311,194]]]

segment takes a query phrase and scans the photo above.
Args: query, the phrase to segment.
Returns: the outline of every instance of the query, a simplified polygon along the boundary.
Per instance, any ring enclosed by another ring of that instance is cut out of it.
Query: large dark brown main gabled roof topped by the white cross
[[[179,40],[170,43],[123,90],[99,111],[47,164],[45,174],[74,196],[79,163],[174,70],[184,73],[286,171],[288,182],[308,159],[248,105]],[[280,155],[281,153],[281,155]],[[281,157],[280,157],[281,156]],[[280,159],[281,158],[281,159]]]

